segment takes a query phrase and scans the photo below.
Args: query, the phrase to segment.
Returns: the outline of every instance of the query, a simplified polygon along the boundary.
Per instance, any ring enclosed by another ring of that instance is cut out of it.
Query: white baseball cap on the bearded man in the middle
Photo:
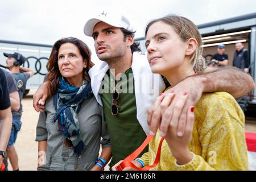
[[[125,28],[127,30],[133,31],[129,20],[123,16],[122,13],[114,11],[103,11],[96,18],[91,18],[85,23],[84,34],[87,36],[92,36],[93,28],[98,22],[105,22],[114,27]]]

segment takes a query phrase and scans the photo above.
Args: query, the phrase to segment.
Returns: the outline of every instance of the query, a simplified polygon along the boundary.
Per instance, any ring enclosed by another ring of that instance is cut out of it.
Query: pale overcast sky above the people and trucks
[[[191,19],[195,24],[256,13],[255,0],[0,0],[0,40],[53,45],[73,36],[96,53],[93,39],[84,35],[85,22],[102,11],[122,11],[135,38],[144,36],[146,24],[167,14]]]

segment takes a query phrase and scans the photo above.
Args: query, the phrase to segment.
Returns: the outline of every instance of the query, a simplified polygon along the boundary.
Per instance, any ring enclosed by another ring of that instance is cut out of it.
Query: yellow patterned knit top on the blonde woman
[[[194,113],[191,162],[177,165],[164,140],[160,161],[151,170],[248,170],[245,116],[236,100],[226,92],[205,93]],[[154,163],[160,139],[158,131],[139,158],[145,166]]]

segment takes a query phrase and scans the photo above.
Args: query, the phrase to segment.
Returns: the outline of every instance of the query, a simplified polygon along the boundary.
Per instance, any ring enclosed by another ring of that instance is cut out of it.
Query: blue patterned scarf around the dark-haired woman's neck
[[[82,102],[92,96],[90,82],[83,82],[80,87],[71,86],[60,78],[59,88],[53,96],[56,114],[52,122],[58,122],[61,133],[71,140],[74,153],[80,158],[86,145],[82,142],[77,114]]]

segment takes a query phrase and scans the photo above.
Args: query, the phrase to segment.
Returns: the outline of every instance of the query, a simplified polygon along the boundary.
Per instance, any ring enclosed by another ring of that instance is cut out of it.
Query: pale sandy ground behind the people
[[[23,98],[23,115],[22,129],[19,131],[16,139],[15,148],[19,156],[19,169],[22,171],[35,171],[38,163],[38,143],[35,142],[36,124],[39,113],[32,106],[32,94],[35,90],[31,90],[28,96]],[[256,118],[249,118],[246,122],[246,132],[256,133]],[[108,167],[105,168],[108,170]],[[9,170],[12,170],[9,163]]]

